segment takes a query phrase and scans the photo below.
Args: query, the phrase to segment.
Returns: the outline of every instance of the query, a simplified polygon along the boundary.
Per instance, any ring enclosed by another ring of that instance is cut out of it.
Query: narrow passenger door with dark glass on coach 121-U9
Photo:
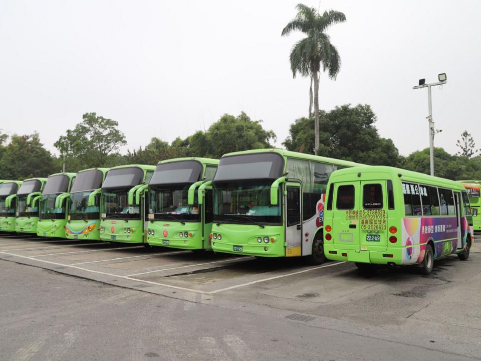
[[[284,222],[286,229],[286,257],[302,255],[302,188],[300,183],[285,183]]]

